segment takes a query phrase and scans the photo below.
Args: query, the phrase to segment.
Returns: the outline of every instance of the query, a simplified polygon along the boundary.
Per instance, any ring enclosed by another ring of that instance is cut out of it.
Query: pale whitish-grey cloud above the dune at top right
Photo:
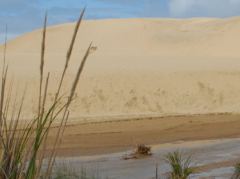
[[[239,15],[240,0],[170,0],[170,15],[173,17]]]

